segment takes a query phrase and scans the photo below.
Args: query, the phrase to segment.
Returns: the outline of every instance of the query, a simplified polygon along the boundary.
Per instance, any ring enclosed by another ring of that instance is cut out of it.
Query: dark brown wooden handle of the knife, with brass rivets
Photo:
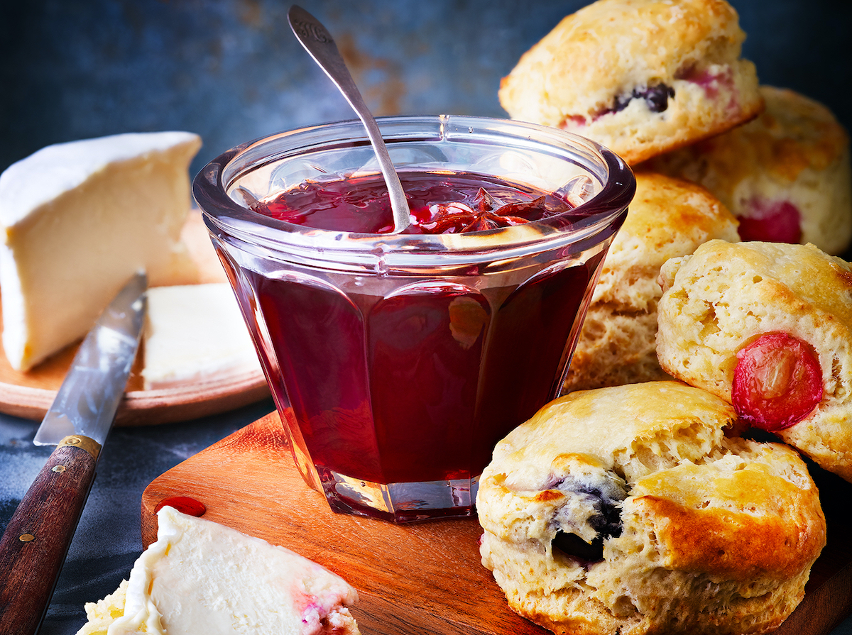
[[[0,539],[0,635],[31,635],[41,625],[95,480],[96,455],[60,443],[9,520]]]

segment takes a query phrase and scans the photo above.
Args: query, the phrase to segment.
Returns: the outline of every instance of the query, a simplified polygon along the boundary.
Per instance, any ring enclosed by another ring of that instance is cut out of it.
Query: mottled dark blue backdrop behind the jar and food
[[[504,117],[521,54],[584,0],[301,0],[377,114]],[[287,25],[286,0],[0,0],[0,170],[59,141],[186,129],[193,174],[243,141],[353,117]],[[849,129],[845,0],[733,0],[763,83],[823,101]]]

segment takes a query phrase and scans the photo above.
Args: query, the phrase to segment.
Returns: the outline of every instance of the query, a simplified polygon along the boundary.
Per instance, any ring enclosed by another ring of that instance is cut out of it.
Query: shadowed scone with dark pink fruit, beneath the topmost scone
[[[843,254],[852,239],[849,135],[803,94],[771,86],[760,92],[760,117],[657,157],[651,167],[707,187],[739,218],[743,240],[813,243]]]

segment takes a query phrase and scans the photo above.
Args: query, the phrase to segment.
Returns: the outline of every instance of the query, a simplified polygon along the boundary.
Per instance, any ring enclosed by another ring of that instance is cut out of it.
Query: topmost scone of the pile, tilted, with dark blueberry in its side
[[[746,34],[724,0],[598,0],[504,77],[509,116],[581,134],[627,163],[722,133],[763,109]]]

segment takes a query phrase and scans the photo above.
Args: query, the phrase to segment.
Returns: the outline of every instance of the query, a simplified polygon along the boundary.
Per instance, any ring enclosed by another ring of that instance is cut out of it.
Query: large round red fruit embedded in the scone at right
[[[761,335],[737,352],[731,398],[740,419],[769,432],[808,416],[822,401],[822,369],[809,344],[786,333]]]

